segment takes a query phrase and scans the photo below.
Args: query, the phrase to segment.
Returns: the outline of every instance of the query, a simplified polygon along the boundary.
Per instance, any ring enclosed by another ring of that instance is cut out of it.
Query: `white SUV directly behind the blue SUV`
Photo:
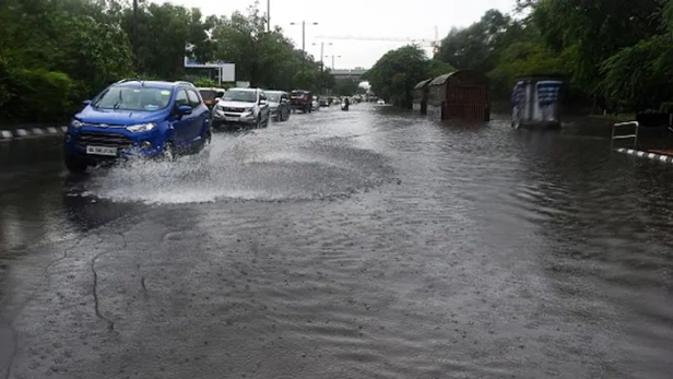
[[[269,126],[269,102],[260,88],[231,88],[213,108],[213,129]]]

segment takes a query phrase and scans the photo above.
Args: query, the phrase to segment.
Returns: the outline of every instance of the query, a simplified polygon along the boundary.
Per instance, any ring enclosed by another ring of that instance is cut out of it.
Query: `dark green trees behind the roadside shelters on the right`
[[[518,75],[557,74],[570,105],[668,111],[672,58],[672,0],[517,0],[512,14],[489,10],[451,29],[432,59],[418,46],[389,51],[367,79],[409,106],[413,85],[437,74],[432,68],[487,73],[494,99],[509,98]]]

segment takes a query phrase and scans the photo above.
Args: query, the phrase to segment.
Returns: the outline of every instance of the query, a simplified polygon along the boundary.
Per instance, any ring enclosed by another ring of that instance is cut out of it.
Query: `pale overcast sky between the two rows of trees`
[[[326,56],[334,59],[336,69],[370,68],[390,49],[405,43],[379,40],[318,39],[319,36],[418,38],[433,40],[435,26],[439,39],[453,26],[468,26],[488,9],[510,12],[515,0],[270,0],[271,24],[279,25],[300,48],[302,27],[292,22],[317,22],[306,26],[306,50],[317,59],[320,43]],[[156,1],[163,2],[163,1]],[[244,11],[253,0],[169,0],[175,4],[198,7],[204,14],[229,15]],[[265,13],[267,0],[260,0]],[[327,44],[331,43],[332,46]],[[312,44],[317,44],[314,46]],[[430,51],[429,47],[427,49]],[[326,58],[327,66],[332,64]]]

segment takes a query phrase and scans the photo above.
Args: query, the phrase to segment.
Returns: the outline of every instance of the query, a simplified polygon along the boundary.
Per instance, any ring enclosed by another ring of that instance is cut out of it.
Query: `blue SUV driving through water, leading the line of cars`
[[[211,142],[210,110],[188,82],[121,80],[84,102],[66,132],[72,173],[132,156],[175,159]]]

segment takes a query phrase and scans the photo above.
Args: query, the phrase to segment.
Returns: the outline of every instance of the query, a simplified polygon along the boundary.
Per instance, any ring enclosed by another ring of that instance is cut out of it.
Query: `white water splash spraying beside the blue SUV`
[[[116,202],[306,201],[352,196],[392,180],[373,152],[347,145],[298,145],[216,138],[200,155],[94,169],[87,197]]]

